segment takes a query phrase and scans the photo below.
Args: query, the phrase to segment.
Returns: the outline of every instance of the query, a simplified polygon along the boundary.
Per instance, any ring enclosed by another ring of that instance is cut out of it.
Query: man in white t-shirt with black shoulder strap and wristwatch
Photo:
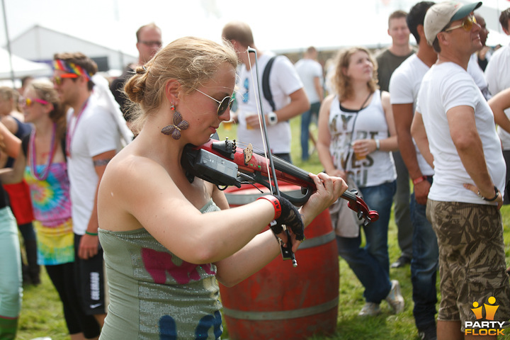
[[[237,101],[237,138],[240,142],[251,143],[254,150],[263,152],[263,140],[259,130],[259,81],[263,79],[263,72],[273,55],[257,50],[251,28],[246,23],[227,23],[223,28],[222,38],[229,40],[244,64],[239,72]],[[259,57],[259,77],[257,79],[254,53],[246,52],[248,47],[257,51]],[[253,71],[253,72],[252,72]],[[271,72],[268,77],[268,88],[271,89],[274,108],[262,96],[264,119],[268,130],[271,152],[276,156],[290,162],[290,118],[300,115],[310,109],[305,89],[294,65],[285,56],[278,56],[273,60]],[[261,86],[262,87],[262,86]]]

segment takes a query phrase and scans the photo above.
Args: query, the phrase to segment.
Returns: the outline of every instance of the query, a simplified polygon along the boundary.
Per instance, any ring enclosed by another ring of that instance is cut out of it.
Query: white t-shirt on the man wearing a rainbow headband
[[[121,145],[117,123],[113,120],[111,113],[97,105],[95,96],[90,96],[78,123],[73,113],[72,108],[67,112],[68,133],[71,139],[71,155],[67,157],[67,171],[71,191],[73,231],[75,234],[83,235],[94,208],[98,184],[92,157],[110,150],[119,151]]]

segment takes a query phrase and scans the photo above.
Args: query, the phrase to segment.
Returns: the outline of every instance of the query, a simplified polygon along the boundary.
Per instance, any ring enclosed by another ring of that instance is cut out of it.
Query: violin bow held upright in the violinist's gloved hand
[[[255,55],[255,72],[256,72],[256,79],[257,79],[257,85],[258,85],[257,91],[259,94],[259,105],[257,106],[257,112],[259,113],[259,126],[261,128],[261,135],[263,136],[263,142],[265,142],[264,154],[265,154],[266,158],[269,160],[269,167],[271,168],[271,176],[273,176],[273,179],[274,179],[274,192],[273,192],[272,187],[270,187],[269,190],[271,191],[271,193],[280,196],[280,189],[278,188],[278,180],[276,177],[276,170],[275,170],[275,166],[274,166],[274,162],[273,162],[273,155],[271,154],[271,145],[269,143],[269,137],[268,137],[267,126],[266,126],[266,118],[264,115],[264,109],[263,109],[263,103],[262,103],[262,96],[261,96],[262,89],[261,89],[261,84],[260,84],[261,81],[260,81],[260,77],[259,77],[259,57],[257,55],[256,49],[254,49],[252,47],[248,47],[248,49],[246,50],[246,53],[248,54],[248,60],[249,60],[250,53],[253,53]],[[250,64],[251,64],[251,62],[250,62]],[[253,82],[253,84],[255,84],[253,69],[250,69],[250,74],[251,74],[251,81]],[[269,175],[269,171],[268,171],[268,175]],[[271,185],[271,178],[269,178],[269,183]],[[273,221],[272,223],[276,223],[276,222]],[[285,227],[285,233],[287,234],[287,239],[288,239],[287,246],[285,246],[283,244],[283,241],[279,237],[277,237],[278,242],[280,244],[282,257],[284,260],[292,259],[293,266],[296,267],[297,261],[295,259],[295,254],[292,250],[292,241],[290,239],[290,232],[288,231],[288,229],[286,227]]]

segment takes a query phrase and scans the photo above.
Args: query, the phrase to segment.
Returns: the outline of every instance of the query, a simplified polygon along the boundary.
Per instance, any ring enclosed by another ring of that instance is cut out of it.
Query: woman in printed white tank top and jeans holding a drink
[[[330,176],[353,176],[365,203],[379,219],[363,227],[366,245],[358,237],[337,235],[339,254],[365,287],[362,316],[380,312],[380,302],[402,312],[404,300],[397,280],[390,281],[387,230],[396,171],[391,151],[397,135],[390,94],[376,85],[377,67],[368,50],[352,47],[336,60],[336,94],[324,99],[319,111],[319,159]],[[352,236],[352,235],[351,235]]]

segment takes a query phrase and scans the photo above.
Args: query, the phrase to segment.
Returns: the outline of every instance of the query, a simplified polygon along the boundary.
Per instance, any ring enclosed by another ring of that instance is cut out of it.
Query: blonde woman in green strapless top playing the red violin
[[[236,67],[232,47],[181,38],[125,85],[141,128],[108,164],[98,191],[111,299],[101,339],[218,339],[216,279],[235,285],[280,253],[273,232],[262,232],[279,213],[297,250],[299,225],[346,190],[339,178],[311,174],[317,191],[299,212],[276,196],[227,209],[218,188],[188,181],[183,148],[207,142],[229,120]]]

